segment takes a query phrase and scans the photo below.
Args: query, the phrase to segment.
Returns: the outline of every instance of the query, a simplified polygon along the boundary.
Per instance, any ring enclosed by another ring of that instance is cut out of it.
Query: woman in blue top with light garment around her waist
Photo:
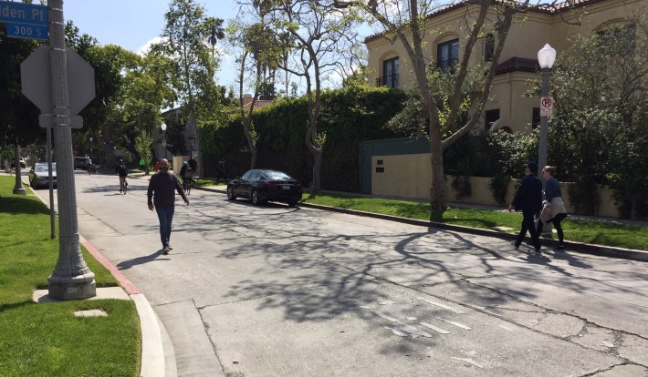
[[[567,218],[567,209],[565,209],[565,204],[562,202],[562,192],[560,191],[558,179],[554,178],[555,175],[556,167],[546,166],[542,169],[542,178],[546,179],[546,200],[542,212],[540,213],[537,231],[539,235],[542,233],[542,228],[544,228],[545,224],[553,224],[554,228],[556,228],[556,233],[558,233],[558,247],[556,247],[556,250],[564,250],[565,235],[562,231],[560,221]]]

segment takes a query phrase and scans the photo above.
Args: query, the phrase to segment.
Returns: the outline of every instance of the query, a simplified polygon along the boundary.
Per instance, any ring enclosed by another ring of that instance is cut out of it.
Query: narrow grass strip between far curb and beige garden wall
[[[409,201],[364,198],[340,195],[318,195],[311,197],[305,193],[302,201],[340,209],[356,209],[372,213],[400,216],[408,219],[430,219],[428,203]],[[507,210],[481,210],[453,208],[444,212],[442,222],[471,228],[494,229],[510,228],[509,233],[519,231],[522,215]],[[600,223],[576,219],[565,219],[562,222],[565,239],[595,243],[605,246],[633,250],[648,250],[648,228],[630,227],[621,224]],[[554,234],[554,239],[557,236]]]

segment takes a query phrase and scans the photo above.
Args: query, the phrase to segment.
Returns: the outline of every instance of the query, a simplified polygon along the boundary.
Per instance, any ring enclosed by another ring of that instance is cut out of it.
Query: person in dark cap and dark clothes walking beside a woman
[[[536,250],[536,255],[541,255],[540,235],[536,229],[534,219],[536,213],[542,209],[542,182],[537,174],[538,164],[534,161],[528,162],[525,166],[526,177],[522,179],[513,202],[508,206],[508,210],[522,210],[522,227],[513,246],[518,250],[528,231],[531,235],[531,241],[533,248]]]

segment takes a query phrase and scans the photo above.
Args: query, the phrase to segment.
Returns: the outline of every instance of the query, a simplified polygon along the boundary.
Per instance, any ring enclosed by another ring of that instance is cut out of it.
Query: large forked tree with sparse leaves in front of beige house
[[[408,0],[370,0],[342,2],[336,6],[354,6],[371,16],[371,20],[381,25],[382,33],[392,41],[398,40],[404,46],[412,62],[416,88],[423,102],[425,117],[428,121],[428,137],[432,158],[432,188],[430,203],[432,219],[438,219],[447,209],[444,189],[444,148],[472,130],[482,114],[495,76],[495,68],[507,40],[513,17],[528,10],[529,1],[520,3],[498,2],[496,0],[466,1],[465,25],[467,37],[463,44],[463,55],[457,66],[449,70],[432,68],[424,51],[425,33],[441,33],[440,30],[427,30],[425,15],[441,6],[435,1]],[[469,64],[477,41],[486,31],[496,32],[496,49],[493,58],[485,67],[481,79],[471,80]],[[438,90],[434,84],[449,79],[449,90]],[[466,111],[470,109],[470,111]]]

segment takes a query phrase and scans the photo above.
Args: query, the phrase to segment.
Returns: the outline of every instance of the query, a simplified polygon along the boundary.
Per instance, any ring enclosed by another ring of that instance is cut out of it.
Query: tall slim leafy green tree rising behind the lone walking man
[[[173,87],[178,93],[183,109],[189,118],[196,149],[199,155],[198,174],[202,174],[200,139],[197,138],[199,124],[213,119],[220,108],[219,87],[214,83],[216,60],[210,55],[206,41],[214,32],[214,19],[204,15],[204,6],[193,0],[172,0],[164,14],[166,25],[162,31],[162,42],[152,46],[156,54],[168,56],[173,62]],[[217,31],[217,30],[216,30]]]

